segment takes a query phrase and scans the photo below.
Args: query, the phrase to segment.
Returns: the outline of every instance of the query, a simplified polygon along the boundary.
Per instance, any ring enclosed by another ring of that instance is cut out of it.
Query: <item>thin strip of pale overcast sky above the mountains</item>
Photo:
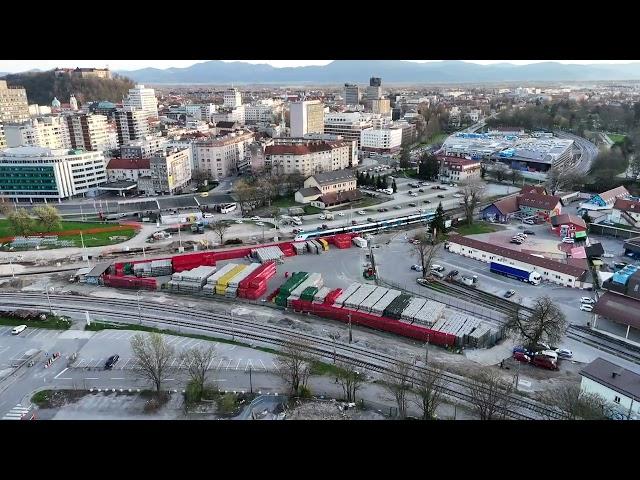
[[[170,68],[189,67],[194,63],[206,60],[0,60],[0,72],[24,72],[38,68],[51,70],[56,67],[105,67],[112,70],[137,70],[139,68]],[[234,61],[234,60],[224,60]],[[326,65],[331,60],[241,60],[249,63],[268,63],[274,67],[300,67],[305,65]],[[424,62],[433,60],[411,60],[412,62]],[[492,63],[514,63],[526,65],[529,63],[546,62],[548,60],[467,60],[473,63],[488,65]],[[557,60],[560,63],[632,63],[638,60]]]

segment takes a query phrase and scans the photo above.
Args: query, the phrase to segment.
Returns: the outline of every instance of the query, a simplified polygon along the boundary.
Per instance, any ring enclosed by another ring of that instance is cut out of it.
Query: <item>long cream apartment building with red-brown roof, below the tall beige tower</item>
[[[342,170],[357,163],[352,142],[308,140],[265,148],[265,166],[273,173],[305,176]]]

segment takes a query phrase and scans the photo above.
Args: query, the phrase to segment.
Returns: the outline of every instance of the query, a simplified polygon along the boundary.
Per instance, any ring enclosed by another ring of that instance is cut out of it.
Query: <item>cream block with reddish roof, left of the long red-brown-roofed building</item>
[[[214,180],[237,173],[249,165],[253,132],[238,131],[192,144],[194,165]]]

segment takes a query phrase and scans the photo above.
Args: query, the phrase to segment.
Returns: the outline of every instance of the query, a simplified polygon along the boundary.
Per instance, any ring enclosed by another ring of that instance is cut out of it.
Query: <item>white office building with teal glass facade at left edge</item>
[[[31,202],[91,195],[107,181],[102,152],[16,147],[0,151],[0,194]]]

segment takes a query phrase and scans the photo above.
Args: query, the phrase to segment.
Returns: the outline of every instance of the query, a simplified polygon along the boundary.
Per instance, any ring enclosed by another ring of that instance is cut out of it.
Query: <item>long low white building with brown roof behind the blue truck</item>
[[[565,287],[590,288],[587,280],[587,269],[560,263],[548,258],[540,258],[528,253],[499,247],[487,242],[481,242],[461,235],[449,237],[448,249],[464,257],[470,257],[481,262],[502,262],[516,268],[538,272],[543,280]]]

